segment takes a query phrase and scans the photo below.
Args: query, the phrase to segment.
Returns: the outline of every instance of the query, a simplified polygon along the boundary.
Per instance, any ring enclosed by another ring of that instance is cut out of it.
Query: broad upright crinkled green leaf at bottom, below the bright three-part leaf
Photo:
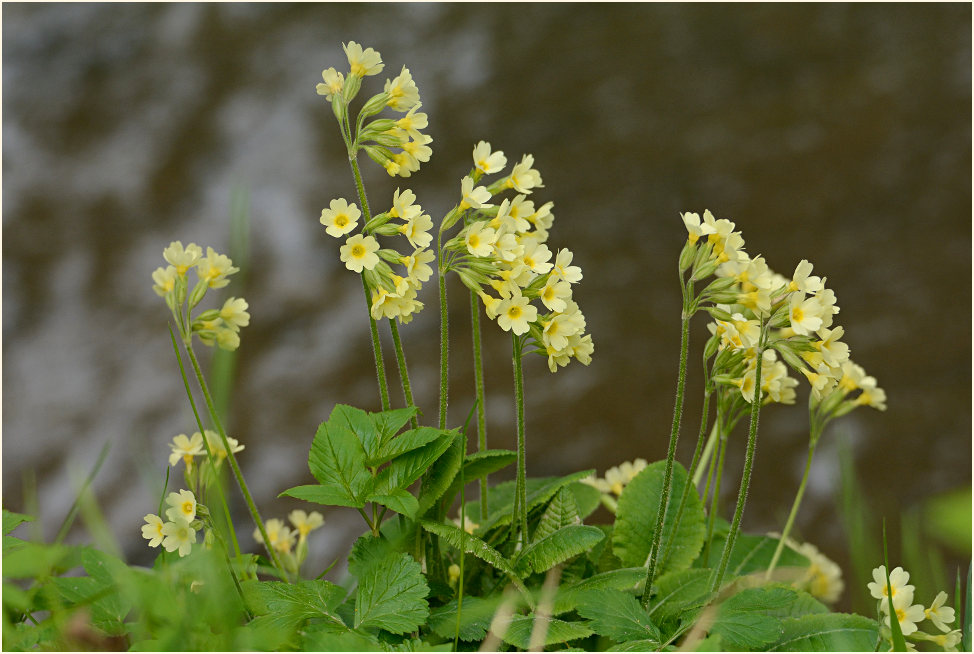
[[[390,551],[358,575],[355,628],[378,628],[394,634],[414,631],[429,615],[429,586],[419,563]]]

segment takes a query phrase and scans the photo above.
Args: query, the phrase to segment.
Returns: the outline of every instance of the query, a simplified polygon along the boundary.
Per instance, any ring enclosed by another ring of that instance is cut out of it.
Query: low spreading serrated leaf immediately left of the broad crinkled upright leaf
[[[268,628],[291,631],[306,620],[324,620],[347,630],[335,609],[345,599],[345,589],[323,579],[288,584],[282,581],[245,581],[241,584],[247,604]]]

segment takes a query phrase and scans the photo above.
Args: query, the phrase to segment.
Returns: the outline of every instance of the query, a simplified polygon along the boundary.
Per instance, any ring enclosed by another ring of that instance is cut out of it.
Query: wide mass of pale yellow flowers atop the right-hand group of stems
[[[764,257],[747,254],[730,220],[718,220],[709,211],[702,220],[696,213],[682,218],[688,236],[681,271],[689,270],[694,281],[716,277],[702,298],[715,303],[710,331],[717,351],[726,353],[718,381],[737,386],[747,402],[754,401],[756,352],[765,324],[770,348],[764,350],[761,370],[764,403],[794,403],[798,382],[787,375],[790,366],[808,380],[815,401],[829,415],[856,406],[886,408],[886,394],[875,378],[849,359],[845,330],[833,322],[839,313],[835,293],[825,278],[811,274],[811,263],[799,262],[789,279],[771,270]],[[855,391],[860,392],[851,397]]]

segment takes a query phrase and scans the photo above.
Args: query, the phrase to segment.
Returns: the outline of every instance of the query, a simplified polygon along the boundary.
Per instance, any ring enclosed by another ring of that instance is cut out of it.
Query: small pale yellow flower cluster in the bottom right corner
[[[956,652],[961,641],[959,629],[951,629],[954,622],[954,609],[945,605],[947,593],[941,591],[934,598],[929,607],[913,603],[914,586],[909,584],[910,573],[903,568],[894,568],[889,573],[889,585],[886,584],[886,566],[881,565],[873,570],[873,581],[866,584],[869,593],[878,600],[876,610],[885,625],[883,636],[890,640],[890,610],[889,597],[892,596],[893,611],[900,625],[900,631],[905,637],[918,641],[928,641],[944,648],[947,652]],[[892,593],[890,594],[890,591]],[[928,634],[920,631],[917,624],[929,620],[941,633]]]

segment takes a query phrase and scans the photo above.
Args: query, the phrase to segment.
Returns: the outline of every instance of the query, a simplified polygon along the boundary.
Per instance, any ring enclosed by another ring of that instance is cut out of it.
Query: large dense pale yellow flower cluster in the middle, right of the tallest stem
[[[487,316],[504,331],[529,334],[554,372],[575,358],[592,360],[592,337],[585,316],[572,299],[572,284],[582,271],[568,249],[547,245],[554,221],[553,202],[535,207],[528,195],[543,188],[534,157],[525,155],[511,173],[490,186],[478,186],[485,174],[503,170],[507,158],[481,141],[473,150],[474,166],[460,182],[460,202],[444,218],[441,231],[463,221],[459,233],[444,244],[444,270],[454,270],[484,303]],[[513,198],[491,203],[513,190]],[[496,293],[496,295],[494,295]],[[532,304],[537,300],[539,305]]]

